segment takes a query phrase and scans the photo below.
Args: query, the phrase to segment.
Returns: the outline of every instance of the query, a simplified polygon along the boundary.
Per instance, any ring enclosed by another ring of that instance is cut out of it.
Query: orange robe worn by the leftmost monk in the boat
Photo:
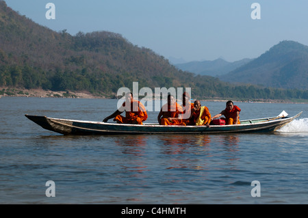
[[[125,103],[123,103],[125,107]],[[146,109],[142,103],[138,100],[131,101],[131,108],[129,110],[125,109],[125,117],[123,115],[117,115],[114,121],[121,124],[140,124],[148,118]]]

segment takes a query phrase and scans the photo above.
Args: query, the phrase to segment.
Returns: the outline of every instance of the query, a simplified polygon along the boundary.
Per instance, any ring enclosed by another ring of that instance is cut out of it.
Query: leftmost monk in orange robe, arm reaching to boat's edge
[[[125,111],[125,117],[120,115]],[[112,115],[107,116],[103,122],[107,122],[109,119],[114,118],[118,124],[140,124],[148,118],[146,109],[140,101],[133,99],[131,92],[125,95],[125,102],[116,110]]]

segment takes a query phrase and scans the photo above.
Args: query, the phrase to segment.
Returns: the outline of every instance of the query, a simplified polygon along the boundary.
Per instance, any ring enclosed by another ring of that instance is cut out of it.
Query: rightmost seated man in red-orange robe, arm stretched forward
[[[226,120],[226,125],[240,124],[240,111],[241,111],[240,107],[233,105],[232,100],[229,100],[226,103],[226,109],[214,115],[214,117],[211,118],[211,120],[219,118],[221,115],[224,115]]]

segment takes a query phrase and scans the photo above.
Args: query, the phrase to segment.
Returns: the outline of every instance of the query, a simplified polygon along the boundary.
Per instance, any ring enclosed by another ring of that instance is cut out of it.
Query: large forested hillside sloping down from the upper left
[[[118,33],[55,32],[0,1],[0,86],[90,91],[103,96],[120,87],[192,87],[194,98],[308,98],[307,92],[235,86],[178,70],[151,49]],[[0,93],[1,94],[1,93]],[[287,95],[286,95],[287,94]]]

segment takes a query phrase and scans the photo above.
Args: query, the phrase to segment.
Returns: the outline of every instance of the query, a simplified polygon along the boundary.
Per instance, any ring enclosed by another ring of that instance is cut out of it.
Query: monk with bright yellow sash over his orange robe
[[[192,120],[194,126],[209,126],[211,122],[211,113],[205,106],[201,107],[200,100],[194,101],[194,108],[192,109]]]

